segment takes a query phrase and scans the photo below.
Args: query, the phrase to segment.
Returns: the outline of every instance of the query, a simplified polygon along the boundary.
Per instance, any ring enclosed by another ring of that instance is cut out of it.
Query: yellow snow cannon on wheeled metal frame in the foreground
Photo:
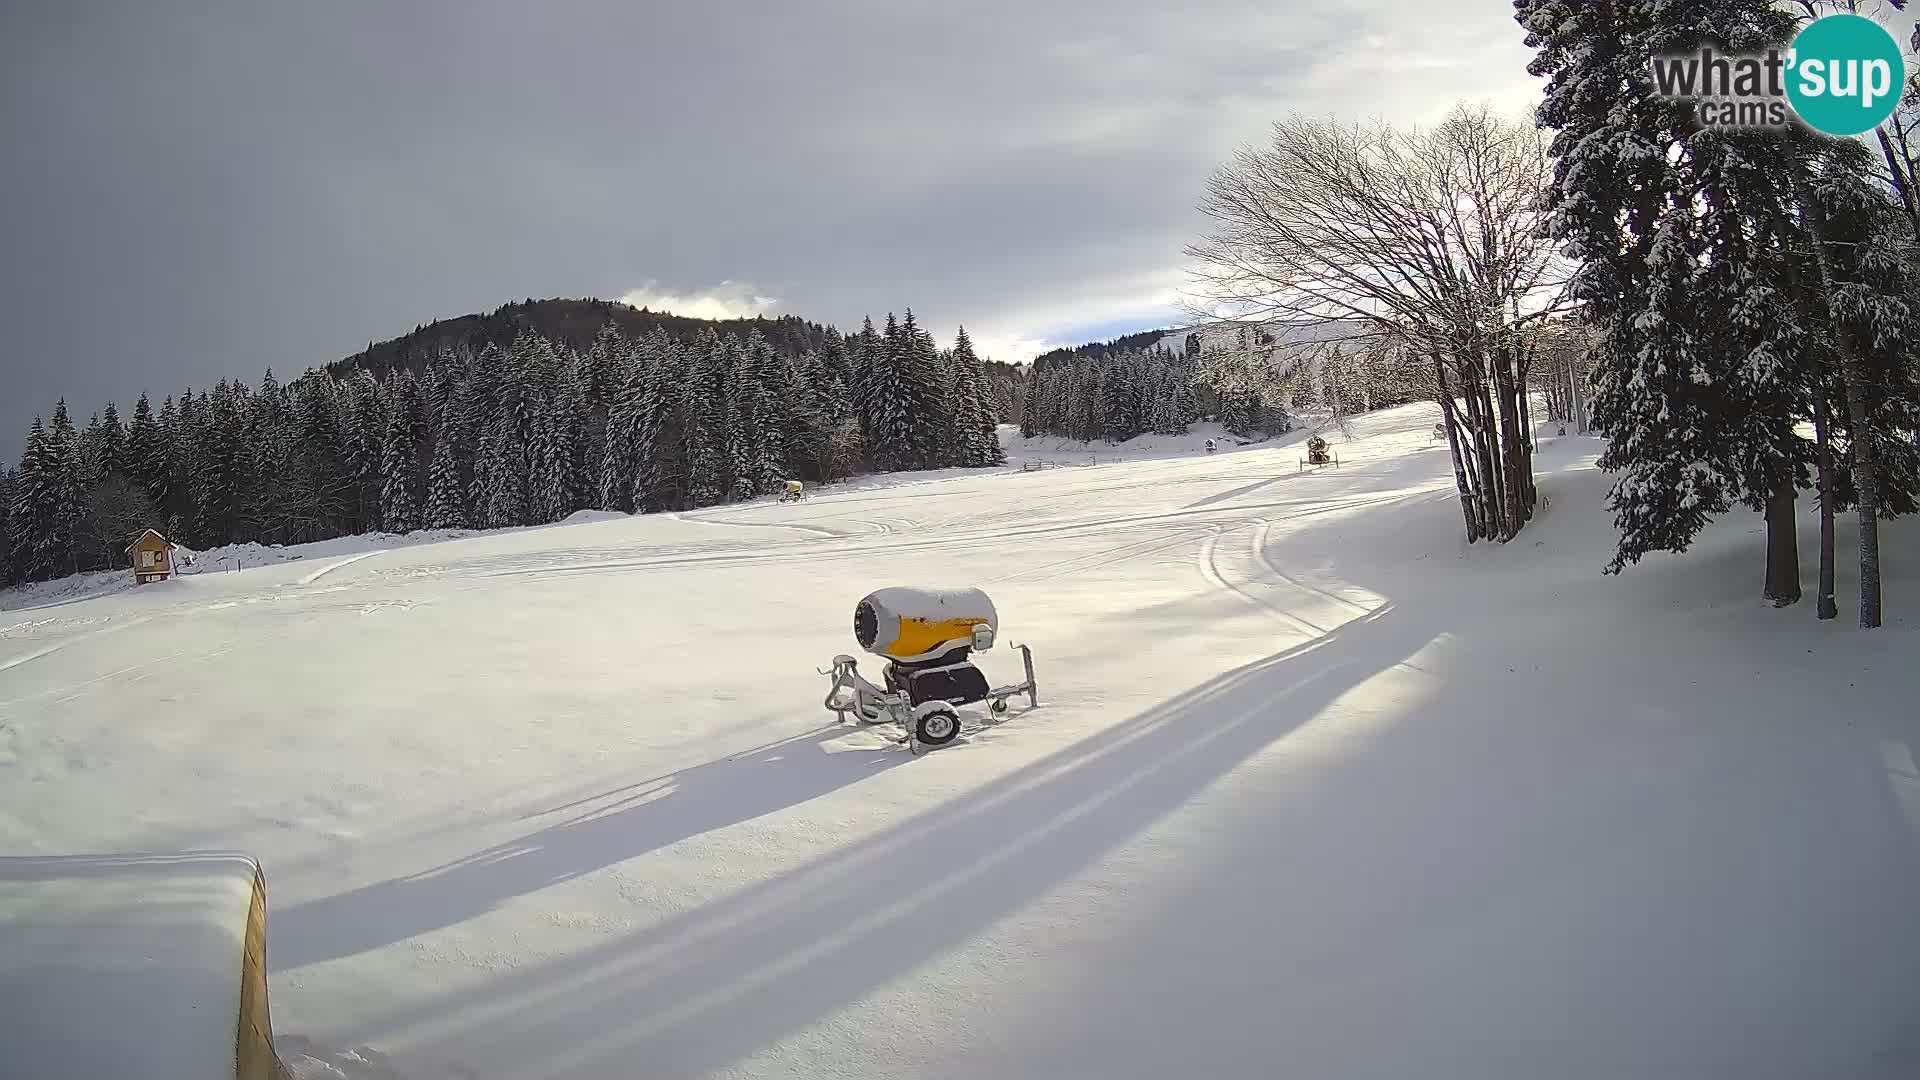
[[[860,661],[841,653],[829,675],[824,705],[847,723],[893,723],[914,753],[960,738],[958,705],[985,701],[995,721],[1006,717],[1006,700],[1025,694],[1027,707],[1041,705],[1033,678],[1033,650],[1020,644],[1025,682],[989,686],[987,675],[968,659],[991,650],[1000,628],[993,600],[977,588],[881,588],[854,607],[852,630],[860,648],[887,661],[883,686],[860,675]]]

